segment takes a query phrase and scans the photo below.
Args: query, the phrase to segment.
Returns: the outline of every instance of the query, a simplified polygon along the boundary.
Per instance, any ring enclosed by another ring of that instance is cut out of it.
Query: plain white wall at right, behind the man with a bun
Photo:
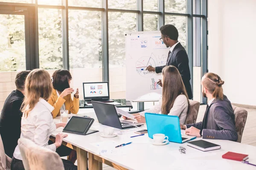
[[[208,0],[208,69],[232,103],[256,106],[256,0]]]

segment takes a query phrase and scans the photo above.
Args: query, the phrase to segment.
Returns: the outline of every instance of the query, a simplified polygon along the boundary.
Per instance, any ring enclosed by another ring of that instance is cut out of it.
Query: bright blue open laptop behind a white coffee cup
[[[195,139],[196,136],[182,135],[180,131],[180,120],[178,116],[164,114],[145,113],[148,127],[148,137],[153,138],[156,133],[168,136],[170,142],[184,143]]]

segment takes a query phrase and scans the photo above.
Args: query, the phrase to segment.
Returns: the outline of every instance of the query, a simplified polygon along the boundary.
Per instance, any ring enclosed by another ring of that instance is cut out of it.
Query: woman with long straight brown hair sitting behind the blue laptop
[[[166,66],[162,71],[162,99],[159,105],[134,114],[137,122],[145,123],[145,113],[162,113],[179,116],[180,123],[184,124],[189,112],[189,99],[178,69],[172,65]],[[126,119],[125,117],[123,117]]]

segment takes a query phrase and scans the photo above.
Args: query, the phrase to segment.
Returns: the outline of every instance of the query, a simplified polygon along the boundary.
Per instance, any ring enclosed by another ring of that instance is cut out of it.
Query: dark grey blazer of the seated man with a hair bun
[[[203,122],[186,125],[187,128],[191,126],[203,129],[204,139],[236,141],[238,137],[234,111],[227,96],[224,100],[214,99],[204,114]]]

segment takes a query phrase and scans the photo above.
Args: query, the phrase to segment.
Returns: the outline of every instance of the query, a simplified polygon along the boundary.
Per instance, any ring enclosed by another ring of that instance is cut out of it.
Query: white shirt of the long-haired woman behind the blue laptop
[[[141,116],[145,117],[145,113],[161,113],[162,110],[162,98],[158,105],[154,105],[153,108],[143,111],[140,113]],[[186,122],[186,116],[188,111],[188,100],[184,94],[180,94],[174,101],[174,104],[168,113],[168,115],[179,116],[180,123]]]

